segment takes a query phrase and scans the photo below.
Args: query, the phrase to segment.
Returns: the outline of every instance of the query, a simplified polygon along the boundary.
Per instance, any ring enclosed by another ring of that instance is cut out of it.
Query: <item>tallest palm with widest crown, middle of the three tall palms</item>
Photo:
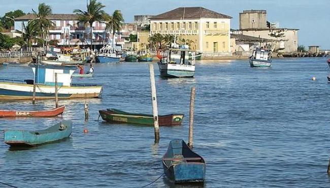
[[[82,11],[79,9],[74,10],[73,12],[79,15],[79,22],[84,24],[89,23],[90,27],[90,50],[92,50],[92,26],[95,21],[104,22],[105,19],[109,17],[109,15],[103,10],[106,6],[104,6],[100,2],[96,2],[96,0],[90,0],[87,5],[87,11]]]

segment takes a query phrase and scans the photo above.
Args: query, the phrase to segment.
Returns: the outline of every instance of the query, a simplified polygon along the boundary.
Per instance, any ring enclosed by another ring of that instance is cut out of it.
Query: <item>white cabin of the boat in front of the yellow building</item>
[[[191,54],[189,60],[189,54]],[[170,48],[164,51],[163,59],[169,64],[179,64],[179,65],[195,65],[195,51],[188,49],[173,49]]]

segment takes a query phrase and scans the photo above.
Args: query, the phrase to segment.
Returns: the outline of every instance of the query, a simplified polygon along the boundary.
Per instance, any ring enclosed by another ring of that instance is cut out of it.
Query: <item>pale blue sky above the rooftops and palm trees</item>
[[[319,45],[330,49],[329,0],[99,0],[111,14],[121,10],[125,22],[133,22],[134,15],[157,15],[178,7],[204,7],[232,16],[231,27],[239,28],[239,13],[243,10],[267,10],[268,20],[279,22],[280,27],[299,28],[299,45]],[[21,9],[31,12],[39,3],[46,3],[53,13],[72,13],[86,9],[86,0],[0,0],[0,16]]]

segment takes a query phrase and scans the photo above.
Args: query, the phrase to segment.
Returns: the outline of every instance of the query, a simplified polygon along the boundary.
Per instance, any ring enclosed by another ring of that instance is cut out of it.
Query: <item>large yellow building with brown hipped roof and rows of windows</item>
[[[203,53],[230,52],[231,18],[203,7],[181,7],[150,18],[150,35],[169,34],[191,40],[190,48]]]

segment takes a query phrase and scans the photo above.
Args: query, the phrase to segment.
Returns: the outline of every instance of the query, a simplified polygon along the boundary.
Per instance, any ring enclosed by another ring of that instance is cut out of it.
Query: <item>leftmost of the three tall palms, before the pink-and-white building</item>
[[[32,9],[32,12],[36,15],[36,18],[31,20],[32,27],[34,27],[43,40],[43,48],[45,47],[45,38],[47,38],[49,29],[55,27],[55,23],[53,23],[48,16],[52,14],[52,8],[45,3],[41,3],[38,6],[38,12]]]

